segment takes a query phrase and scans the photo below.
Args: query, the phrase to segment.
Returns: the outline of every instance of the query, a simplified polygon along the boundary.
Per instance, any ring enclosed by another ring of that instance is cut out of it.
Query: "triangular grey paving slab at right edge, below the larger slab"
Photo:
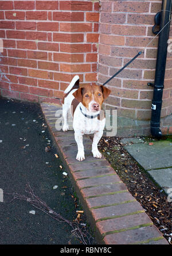
[[[169,188],[172,188],[172,168],[151,170],[148,173],[166,193]]]

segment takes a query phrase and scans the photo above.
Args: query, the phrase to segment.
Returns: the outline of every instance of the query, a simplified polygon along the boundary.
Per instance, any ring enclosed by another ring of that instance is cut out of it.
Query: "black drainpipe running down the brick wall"
[[[171,5],[172,0],[162,0],[161,12],[155,16],[155,24],[160,25],[159,30],[163,28],[169,22],[171,17]],[[161,122],[161,108],[162,108],[162,94],[163,83],[165,78],[166,58],[167,58],[167,40],[169,39],[170,22],[159,33],[158,40],[158,52],[157,63],[155,70],[155,82],[154,85],[148,83],[148,85],[154,86],[154,94],[152,100],[152,113],[151,113],[151,135],[157,138],[161,138],[162,132],[160,127]],[[158,33],[158,32],[155,32]]]

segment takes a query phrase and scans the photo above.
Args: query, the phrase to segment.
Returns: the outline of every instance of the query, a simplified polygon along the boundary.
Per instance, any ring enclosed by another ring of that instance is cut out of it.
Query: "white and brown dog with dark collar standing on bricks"
[[[94,135],[92,143],[93,157],[101,158],[101,153],[97,148],[105,126],[105,117],[103,110],[101,110],[101,105],[111,93],[111,90],[98,85],[80,87],[79,76],[76,75],[64,93],[65,96],[62,100],[64,125],[62,130],[65,132],[69,129],[68,110],[70,109],[73,116],[73,129],[78,148],[76,159],[78,161],[85,159],[83,135],[92,133]]]

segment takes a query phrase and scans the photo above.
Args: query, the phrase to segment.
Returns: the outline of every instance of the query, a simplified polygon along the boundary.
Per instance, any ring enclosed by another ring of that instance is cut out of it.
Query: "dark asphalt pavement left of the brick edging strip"
[[[40,105],[0,98],[0,244],[79,244],[68,224],[9,195],[28,196],[29,184],[50,208],[75,219],[75,193],[56,153]]]

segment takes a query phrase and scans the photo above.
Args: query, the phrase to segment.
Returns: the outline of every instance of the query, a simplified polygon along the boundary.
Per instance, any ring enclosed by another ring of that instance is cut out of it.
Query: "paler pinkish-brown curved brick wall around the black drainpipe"
[[[155,36],[154,16],[162,1],[101,1],[99,75],[103,83],[133,58]],[[172,32],[172,24],[171,24]],[[170,36],[172,33],[170,32]],[[118,110],[118,116],[131,119],[151,118],[151,100],[157,58],[158,37],[118,77],[108,83],[112,90],[106,108]],[[172,54],[166,64],[162,117],[172,113]]]

